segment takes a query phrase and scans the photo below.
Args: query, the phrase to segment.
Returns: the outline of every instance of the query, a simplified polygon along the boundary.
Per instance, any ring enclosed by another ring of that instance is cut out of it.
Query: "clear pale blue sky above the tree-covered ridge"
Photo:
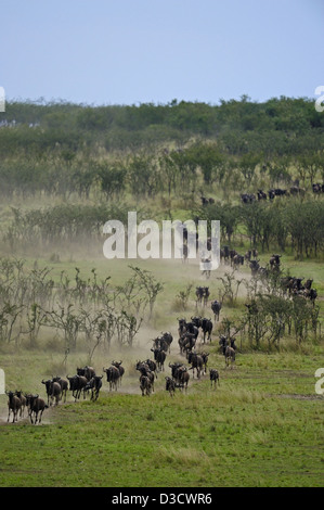
[[[316,98],[324,0],[0,0],[7,100]]]

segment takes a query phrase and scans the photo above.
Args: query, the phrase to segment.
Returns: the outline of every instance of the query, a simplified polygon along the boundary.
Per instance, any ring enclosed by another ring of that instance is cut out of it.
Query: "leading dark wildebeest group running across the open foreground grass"
[[[200,288],[197,288],[197,290]],[[203,288],[204,292],[208,288]],[[209,291],[207,292],[209,296]],[[207,298],[208,301],[208,298]],[[207,301],[205,304],[207,304]],[[211,302],[211,310],[215,313],[215,320],[219,320],[219,313],[221,305],[219,302]],[[206,317],[191,317],[190,321],[184,318],[178,318],[178,333],[179,333],[179,349],[180,355],[185,356],[186,364],[183,361],[168,362],[168,368],[171,370],[170,375],[165,377],[165,388],[171,396],[174,395],[177,388],[186,392],[189,381],[191,379],[190,371],[192,371],[192,379],[197,380],[202,375],[207,374],[207,365],[209,353],[206,350],[197,350],[198,339],[200,343],[211,342],[213,323],[210,318]],[[140,372],[140,392],[143,396],[150,396],[154,393],[154,383],[159,372],[165,372],[165,362],[168,354],[171,350],[173,336],[170,332],[163,332],[159,336],[153,340],[151,352],[154,359],[137,360],[135,370]],[[220,349],[224,355],[226,366],[229,360],[235,360],[234,356],[230,355],[236,347],[233,342],[220,336]],[[187,366],[186,366],[187,365]],[[60,401],[66,403],[67,392],[72,392],[75,401],[79,400],[81,395],[83,399],[90,395],[90,400],[95,401],[99,398],[100,391],[103,386],[103,378],[106,374],[106,381],[109,385],[109,391],[117,391],[121,386],[122,375],[125,368],[122,361],[112,361],[108,368],[103,367],[103,374],[98,375],[93,367],[86,366],[77,368],[76,374],[66,379],[61,377],[52,377],[50,379],[42,379],[41,383],[44,385],[46,398],[41,398],[39,394],[23,393],[22,391],[7,392],[8,399],[8,422],[12,415],[12,422],[16,422],[20,418],[24,418],[25,408],[27,409],[30,422],[34,424],[41,423],[42,415],[46,409],[57,406]],[[219,383],[219,371],[216,368],[209,369],[209,379],[211,387],[216,387]]]

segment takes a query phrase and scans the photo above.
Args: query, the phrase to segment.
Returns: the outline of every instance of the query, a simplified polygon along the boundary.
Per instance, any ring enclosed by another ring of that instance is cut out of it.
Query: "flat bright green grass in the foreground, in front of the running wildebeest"
[[[118,392],[104,383],[95,403],[69,397],[46,410],[40,426],[3,424],[1,486],[321,486],[316,352],[242,354],[233,370],[211,359],[217,390],[204,375],[171,398],[160,373],[142,397],[132,374]]]

